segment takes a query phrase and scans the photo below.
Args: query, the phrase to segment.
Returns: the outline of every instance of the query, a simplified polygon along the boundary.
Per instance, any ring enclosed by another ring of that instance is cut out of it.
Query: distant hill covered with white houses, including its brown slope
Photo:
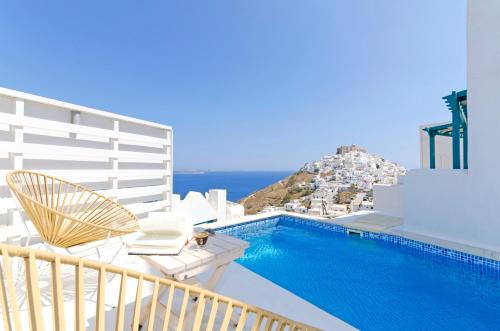
[[[373,184],[395,184],[405,168],[356,145],[306,163],[298,172],[240,200],[248,214],[284,209],[336,217],[373,209]]]

